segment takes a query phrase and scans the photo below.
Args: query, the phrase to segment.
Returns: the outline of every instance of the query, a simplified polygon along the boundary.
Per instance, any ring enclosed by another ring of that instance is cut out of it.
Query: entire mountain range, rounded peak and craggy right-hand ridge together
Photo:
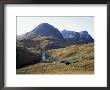
[[[17,45],[34,49],[56,49],[72,44],[92,43],[94,39],[87,31],[59,31],[48,23],[41,23],[32,31],[17,36]]]

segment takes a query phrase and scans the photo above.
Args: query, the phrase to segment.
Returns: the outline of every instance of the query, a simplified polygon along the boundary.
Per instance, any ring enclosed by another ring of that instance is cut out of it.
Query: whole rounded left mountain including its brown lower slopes
[[[32,31],[17,36],[17,45],[35,49],[65,47],[64,41],[60,31],[48,23],[41,23]]]

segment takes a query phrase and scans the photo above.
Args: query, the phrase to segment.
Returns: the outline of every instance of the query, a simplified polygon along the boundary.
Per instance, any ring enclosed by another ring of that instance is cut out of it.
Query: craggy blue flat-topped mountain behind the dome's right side
[[[86,44],[94,42],[94,39],[89,35],[87,31],[75,32],[63,30],[61,31],[63,38],[67,43],[72,44]]]

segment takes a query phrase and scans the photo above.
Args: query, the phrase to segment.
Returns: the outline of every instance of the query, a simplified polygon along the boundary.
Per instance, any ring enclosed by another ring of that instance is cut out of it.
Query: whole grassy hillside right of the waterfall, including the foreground
[[[49,50],[44,63],[16,70],[17,74],[93,74],[94,43]]]

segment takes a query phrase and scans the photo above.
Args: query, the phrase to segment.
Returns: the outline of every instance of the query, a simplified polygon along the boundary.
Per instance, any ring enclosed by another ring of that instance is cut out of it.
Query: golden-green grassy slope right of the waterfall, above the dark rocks
[[[71,45],[66,48],[53,49],[49,52],[53,58],[57,58],[57,61],[92,60],[94,59],[94,43]]]

